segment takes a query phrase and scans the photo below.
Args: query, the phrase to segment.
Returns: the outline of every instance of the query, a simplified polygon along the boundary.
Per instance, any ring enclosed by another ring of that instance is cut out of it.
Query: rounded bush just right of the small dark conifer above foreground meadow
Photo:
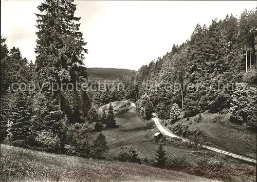
[[[182,154],[169,156],[166,163],[166,169],[185,169],[190,166],[188,158]]]

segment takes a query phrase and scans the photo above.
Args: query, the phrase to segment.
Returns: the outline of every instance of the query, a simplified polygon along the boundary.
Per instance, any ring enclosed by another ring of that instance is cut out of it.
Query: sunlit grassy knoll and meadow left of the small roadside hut
[[[154,157],[159,146],[154,140],[154,134],[158,132],[154,122],[152,120],[145,122],[141,119],[130,103],[114,102],[112,105],[119,128],[102,131],[110,149],[106,157],[113,158],[117,156],[122,146],[134,146],[141,155]],[[99,113],[103,108],[107,109],[107,107],[108,105],[104,105],[99,108]],[[94,137],[98,133],[94,133]],[[164,149],[167,154],[186,153],[189,155],[191,152],[189,148],[178,148],[171,145],[166,145]]]

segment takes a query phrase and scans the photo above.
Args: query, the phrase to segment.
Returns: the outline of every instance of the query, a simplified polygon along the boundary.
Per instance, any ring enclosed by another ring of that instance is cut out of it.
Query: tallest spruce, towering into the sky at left
[[[83,67],[84,53],[87,53],[84,48],[86,43],[79,31],[80,17],[75,16],[76,5],[73,2],[74,0],[46,0],[38,6],[40,13],[36,14],[36,27],[39,29],[36,32],[38,39],[35,48],[36,79],[40,85],[44,84],[44,92],[47,94],[50,93],[46,89],[52,83],[59,88],[63,84],[65,89],[69,83],[75,87],[76,82],[87,80],[86,69]],[[77,97],[78,93],[75,92],[74,104],[79,104],[80,99]],[[57,89],[52,98],[61,110],[65,110],[69,120],[72,120],[73,116],[62,107],[66,97],[61,89]],[[70,112],[78,115],[78,106],[72,108],[75,109]]]

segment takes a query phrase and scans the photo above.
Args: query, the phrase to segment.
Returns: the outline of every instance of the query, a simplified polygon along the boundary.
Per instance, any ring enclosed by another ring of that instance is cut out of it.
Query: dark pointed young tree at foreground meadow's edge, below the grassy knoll
[[[103,158],[109,150],[105,136],[100,133],[91,145],[91,156],[95,158]]]

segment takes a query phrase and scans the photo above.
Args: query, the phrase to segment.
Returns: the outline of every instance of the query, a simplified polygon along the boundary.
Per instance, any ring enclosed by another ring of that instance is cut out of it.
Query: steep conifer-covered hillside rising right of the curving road
[[[197,24],[190,40],[124,78],[136,80],[126,85],[127,98],[146,109],[145,117],[152,111],[175,119],[177,110],[185,117],[227,110],[234,122],[256,128],[256,13]]]

